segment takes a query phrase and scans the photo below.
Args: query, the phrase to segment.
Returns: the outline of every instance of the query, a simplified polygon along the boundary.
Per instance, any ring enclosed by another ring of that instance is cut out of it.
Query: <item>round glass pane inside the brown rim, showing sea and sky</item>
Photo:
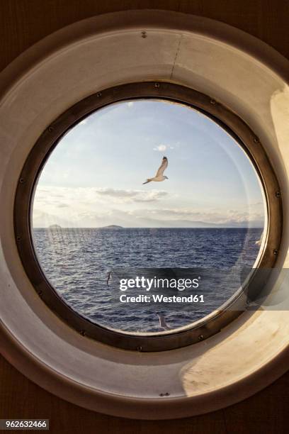
[[[186,104],[140,98],[90,113],[57,140],[31,215],[37,260],[64,304],[104,328],[154,334],[202,320],[239,291],[258,265],[267,211],[233,135]],[[192,297],[164,301],[174,296]]]

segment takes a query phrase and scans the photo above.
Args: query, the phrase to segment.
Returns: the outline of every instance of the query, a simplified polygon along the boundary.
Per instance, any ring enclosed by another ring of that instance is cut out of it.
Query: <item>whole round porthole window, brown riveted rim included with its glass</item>
[[[81,335],[139,351],[199,342],[237,318],[261,289],[256,270],[274,266],[282,230],[259,138],[209,96],[164,82],[98,91],[48,126],[14,216],[47,306]],[[175,281],[159,294],[195,301],[120,301],[153,293],[136,291],[137,277]]]

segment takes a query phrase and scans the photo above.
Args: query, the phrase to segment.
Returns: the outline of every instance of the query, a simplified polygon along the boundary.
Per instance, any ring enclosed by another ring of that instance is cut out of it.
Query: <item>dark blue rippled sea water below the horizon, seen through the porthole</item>
[[[254,265],[262,228],[35,228],[33,233],[45,277],[75,311],[110,328],[158,332],[157,313],[165,316],[171,328],[177,328],[203,318],[227,301],[239,288],[239,270]],[[140,275],[140,269],[147,269],[156,275],[157,269],[173,268],[186,275],[186,269],[196,267],[225,270],[227,277],[205,288],[205,303],[119,301],[123,293],[115,284],[115,269],[132,275],[134,270]],[[111,279],[107,284],[108,272]]]

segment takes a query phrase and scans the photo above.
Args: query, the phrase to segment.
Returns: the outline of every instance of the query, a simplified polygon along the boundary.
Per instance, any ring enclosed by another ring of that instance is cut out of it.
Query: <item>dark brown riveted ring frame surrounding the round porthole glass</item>
[[[103,106],[118,101],[140,98],[166,99],[191,106],[219,123],[242,145],[259,174],[268,208],[266,245],[259,260],[259,267],[270,269],[275,265],[283,228],[282,198],[276,175],[259,138],[241,118],[219,102],[211,99],[210,96],[188,87],[167,82],[123,84],[98,91],[96,94],[79,101],[48,126],[28,155],[19,177],[14,206],[15,236],[23,267],[35,290],[57,316],[78,330],[81,335],[127,350],[172,350],[209,338],[233,321],[234,318],[237,318],[246,306],[244,292],[238,294],[230,302],[229,309],[217,311],[214,316],[204,318],[186,330],[146,336],[110,330],[80,316],[79,313],[64,303],[42,272],[35,254],[30,230],[30,206],[33,201],[35,183],[50,152],[67,133],[67,130]],[[251,278],[251,282],[253,280],[254,277]]]

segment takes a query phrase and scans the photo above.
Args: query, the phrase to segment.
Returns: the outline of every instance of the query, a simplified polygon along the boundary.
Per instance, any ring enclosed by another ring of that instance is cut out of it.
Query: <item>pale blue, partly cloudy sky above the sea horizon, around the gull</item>
[[[153,177],[164,155],[164,182]],[[237,142],[207,116],[134,100],[64,135],[35,188],[33,226],[263,227],[261,184]]]

